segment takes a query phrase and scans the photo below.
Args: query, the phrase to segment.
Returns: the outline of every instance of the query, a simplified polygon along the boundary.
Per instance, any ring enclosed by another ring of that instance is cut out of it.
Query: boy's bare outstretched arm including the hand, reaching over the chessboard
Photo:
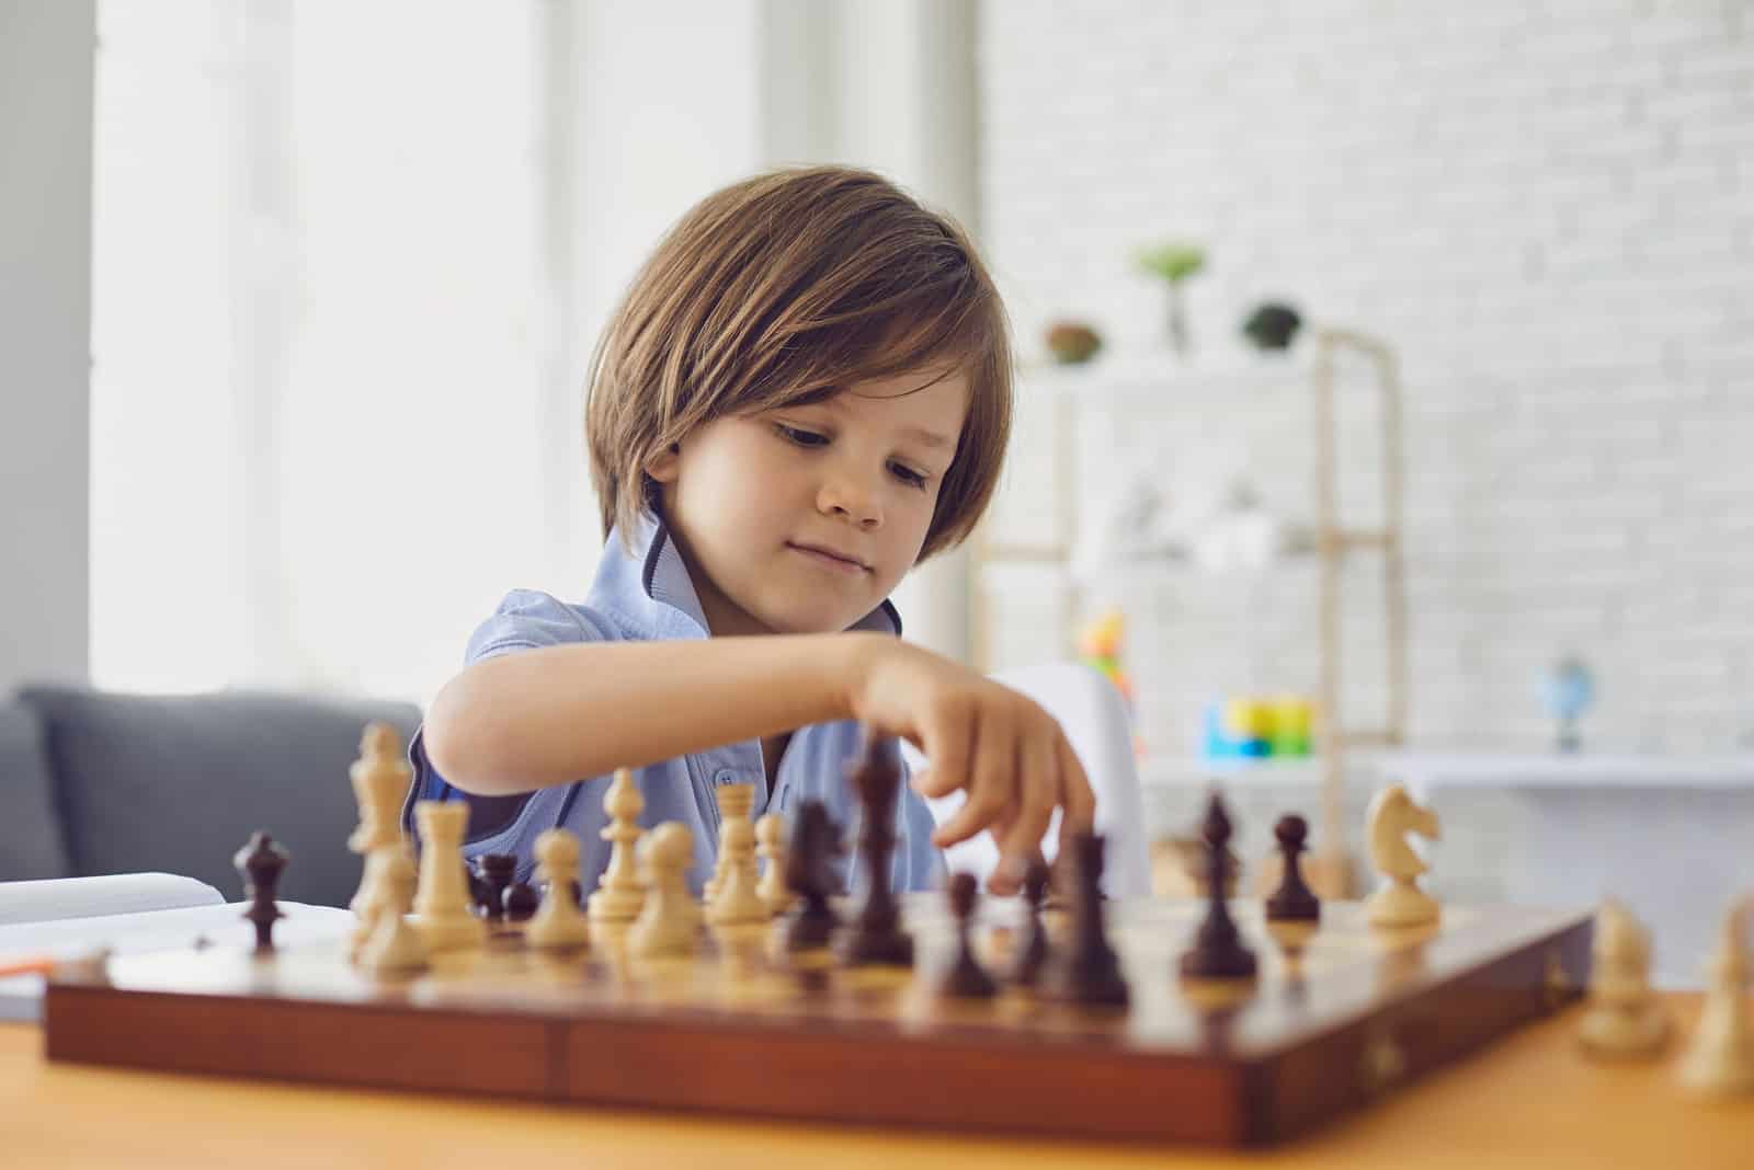
[[[426,757],[475,795],[530,792],[740,739],[854,718],[930,765],[914,790],[968,799],[938,825],[949,848],[982,828],[1012,893],[1056,807],[1089,832],[1094,799],[1059,723],[1028,697],[884,634],[774,634],[586,643],[484,659],[426,715]]]

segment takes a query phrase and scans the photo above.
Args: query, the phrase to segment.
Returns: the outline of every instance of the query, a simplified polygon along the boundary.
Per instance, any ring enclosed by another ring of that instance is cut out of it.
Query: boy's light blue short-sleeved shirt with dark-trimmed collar
[[[642,518],[635,532],[633,555],[621,543],[619,531],[609,534],[603,560],[596,571],[586,604],[574,606],[535,590],[514,590],[500,603],[468,639],[465,664],[537,646],[563,646],[589,641],[663,641],[707,638],[707,618],[689,580],[688,566],[665,525]],[[900,636],[902,618],[888,601],[865,615],[852,629]],[[589,734],[582,729],[581,734]],[[470,797],[451,785],[426,758],[424,734],[416,732],[409,746],[414,783],[403,806],[403,827],[412,830],[416,800],[470,802],[465,858],[482,853],[510,853],[517,858],[517,879],[531,881],[535,839],[545,828],[563,827],[579,835],[579,881],[589,892],[609,865],[610,844],[602,839],[609,823],[603,793],[610,776],[593,776],[572,785],[538,788],[516,799]],[[858,865],[852,863],[858,839],[859,804],[845,781],[845,767],[859,748],[859,727],[852,722],[800,727],[786,744],[768,792],[761,765],[761,743],[710,748],[638,769],[637,779],[645,811],[640,825],[681,821],[695,837],[695,865],[688,874],[698,893],[712,874],[719,849],[719,785],[752,785],[754,816],[781,813],[789,816],[805,799],[828,806],[828,814],[844,828],[847,853],[838,860],[849,892]],[[896,802],[896,849],[889,881],[896,892],[930,890],[940,885],[942,860],[931,846],[933,818],[926,802],[907,785]],[[859,881],[863,885],[863,881]]]

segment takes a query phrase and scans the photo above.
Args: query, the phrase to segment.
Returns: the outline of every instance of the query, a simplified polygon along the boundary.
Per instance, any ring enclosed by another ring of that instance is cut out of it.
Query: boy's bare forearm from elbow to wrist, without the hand
[[[849,718],[881,634],[584,643],[486,659],[433,699],[426,753],[477,795],[528,792]]]

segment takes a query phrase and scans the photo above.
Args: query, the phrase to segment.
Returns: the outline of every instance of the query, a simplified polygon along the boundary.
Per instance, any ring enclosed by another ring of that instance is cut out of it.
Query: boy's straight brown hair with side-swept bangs
[[[603,534],[631,543],[645,466],[721,415],[854,382],[963,371],[968,417],[919,559],[973,531],[1010,438],[1010,338],[968,236],[889,180],[779,170],[689,210],[633,278],[591,359],[584,431]]]

